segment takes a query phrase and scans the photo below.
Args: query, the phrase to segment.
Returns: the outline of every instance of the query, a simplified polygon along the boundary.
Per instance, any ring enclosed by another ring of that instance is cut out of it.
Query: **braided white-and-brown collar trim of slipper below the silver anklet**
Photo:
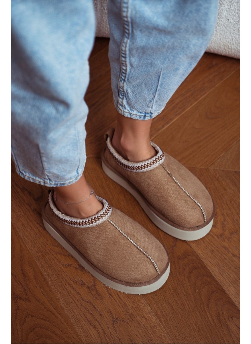
[[[100,223],[106,221],[111,215],[112,207],[110,206],[110,204],[104,198],[98,196],[96,197],[101,203],[103,203],[103,209],[99,213],[86,218],[77,218],[62,214],[55,206],[53,200],[53,191],[51,191],[49,194],[48,203],[53,214],[66,225],[78,228],[87,228],[99,225]]]

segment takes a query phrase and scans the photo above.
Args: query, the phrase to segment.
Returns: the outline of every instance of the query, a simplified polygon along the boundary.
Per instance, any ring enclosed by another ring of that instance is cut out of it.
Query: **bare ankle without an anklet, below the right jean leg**
[[[152,119],[138,120],[117,114],[117,123],[112,138],[112,146],[131,162],[151,159],[156,155],[150,144]]]

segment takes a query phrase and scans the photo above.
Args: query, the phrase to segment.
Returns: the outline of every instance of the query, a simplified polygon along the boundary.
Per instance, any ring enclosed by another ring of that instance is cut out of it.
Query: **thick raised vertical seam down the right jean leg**
[[[127,76],[127,50],[128,50],[128,41],[129,41],[129,0],[122,1],[121,4],[121,16],[123,19],[123,26],[124,26],[124,35],[121,41],[120,46],[120,63],[121,63],[121,72],[119,76],[119,83],[118,83],[118,107],[120,111],[123,111],[124,107],[124,98],[125,98],[125,90],[124,90],[124,83]]]

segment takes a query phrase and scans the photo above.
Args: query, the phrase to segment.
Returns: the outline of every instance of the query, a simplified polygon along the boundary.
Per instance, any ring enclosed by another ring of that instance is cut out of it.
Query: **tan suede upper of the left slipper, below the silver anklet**
[[[137,222],[112,208],[109,218],[95,226],[78,228],[57,218],[47,203],[43,216],[97,269],[113,279],[144,283],[157,278],[168,264],[163,245]],[[115,224],[124,235],[113,225]],[[137,248],[129,239],[133,240]],[[142,252],[152,258],[153,262]]]

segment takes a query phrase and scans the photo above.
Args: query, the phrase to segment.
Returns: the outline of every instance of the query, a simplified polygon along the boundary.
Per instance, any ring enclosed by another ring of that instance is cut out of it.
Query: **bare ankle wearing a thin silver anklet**
[[[76,183],[57,186],[54,190],[55,205],[65,215],[85,218],[97,214],[103,208],[96,195],[94,193],[91,195],[90,185],[86,182],[84,175]],[[83,200],[85,201],[82,202]]]

